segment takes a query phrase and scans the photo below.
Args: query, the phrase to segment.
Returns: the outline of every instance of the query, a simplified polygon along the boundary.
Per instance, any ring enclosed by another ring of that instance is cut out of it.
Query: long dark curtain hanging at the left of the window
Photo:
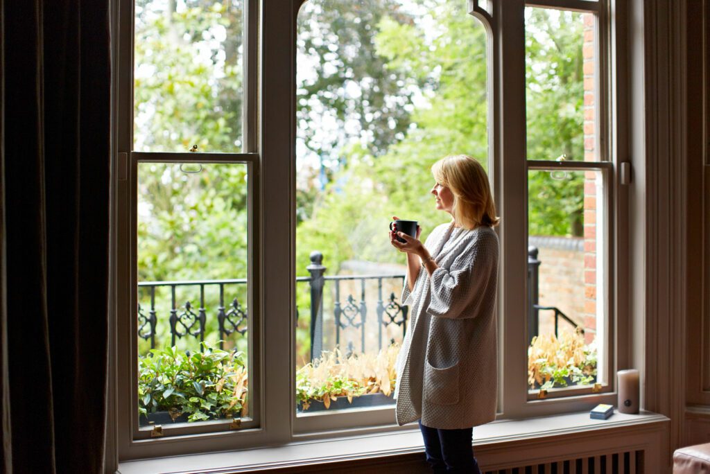
[[[103,470],[109,0],[0,0],[6,473]]]

